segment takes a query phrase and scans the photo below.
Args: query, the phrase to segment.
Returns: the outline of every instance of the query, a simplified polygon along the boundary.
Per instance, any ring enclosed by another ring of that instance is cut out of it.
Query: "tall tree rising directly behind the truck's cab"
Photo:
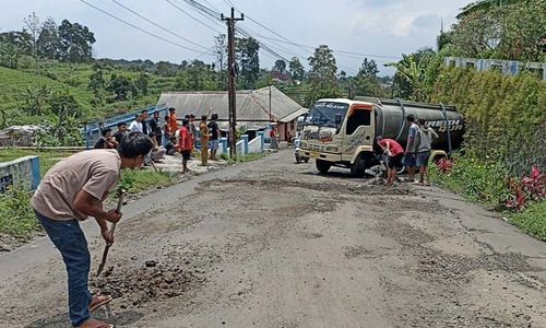
[[[306,104],[312,105],[314,101],[322,97],[340,96],[341,90],[337,86],[335,72],[335,57],[333,51],[321,45],[314,49],[313,56],[309,57],[309,93],[306,96]]]

